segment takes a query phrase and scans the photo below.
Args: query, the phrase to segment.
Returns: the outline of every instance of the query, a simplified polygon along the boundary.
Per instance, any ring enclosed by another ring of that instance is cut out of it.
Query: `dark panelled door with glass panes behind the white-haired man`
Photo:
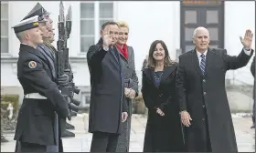
[[[180,3],[180,47],[182,53],[194,48],[197,26],[208,28],[210,47],[224,47],[224,2],[220,0],[184,0]]]

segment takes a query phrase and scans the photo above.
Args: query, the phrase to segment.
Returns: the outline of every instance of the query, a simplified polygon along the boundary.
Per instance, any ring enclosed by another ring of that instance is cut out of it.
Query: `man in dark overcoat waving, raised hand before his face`
[[[123,103],[123,67],[114,46],[118,32],[115,22],[103,24],[100,41],[87,53],[91,74],[91,151],[115,152],[121,123],[128,117],[127,104]]]

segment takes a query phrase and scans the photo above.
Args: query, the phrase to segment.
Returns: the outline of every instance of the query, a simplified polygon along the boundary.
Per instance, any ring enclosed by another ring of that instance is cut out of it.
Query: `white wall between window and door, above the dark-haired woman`
[[[175,59],[179,48],[179,3],[156,1],[118,2],[117,20],[130,26],[128,45],[133,46],[135,66],[140,70],[151,43],[165,41],[170,55]]]

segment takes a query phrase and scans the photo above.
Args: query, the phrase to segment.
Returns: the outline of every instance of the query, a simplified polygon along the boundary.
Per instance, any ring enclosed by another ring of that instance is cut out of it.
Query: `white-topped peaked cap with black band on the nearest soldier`
[[[14,28],[15,33],[19,33],[22,31],[26,31],[32,28],[36,28],[38,27],[38,15],[27,18],[23,21],[20,21],[18,24],[16,24],[15,26],[13,26],[12,28]]]

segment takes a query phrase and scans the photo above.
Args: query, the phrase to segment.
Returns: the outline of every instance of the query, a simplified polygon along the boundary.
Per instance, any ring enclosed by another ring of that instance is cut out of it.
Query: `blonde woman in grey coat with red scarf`
[[[129,35],[129,26],[125,22],[117,22],[119,26],[119,38],[116,47],[121,56],[120,60],[123,65],[124,76],[124,98],[128,105],[129,117],[122,125],[122,133],[118,139],[116,152],[128,152],[131,131],[131,116],[132,116],[132,99],[138,96],[138,77],[135,73],[133,47],[127,46]]]

